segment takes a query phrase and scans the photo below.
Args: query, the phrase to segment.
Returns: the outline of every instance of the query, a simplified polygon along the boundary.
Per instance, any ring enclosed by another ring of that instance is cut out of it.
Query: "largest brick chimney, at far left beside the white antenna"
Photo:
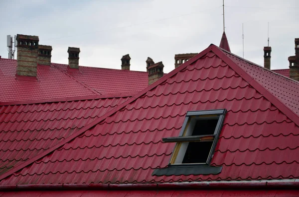
[[[17,66],[16,74],[19,76],[36,76],[38,36],[17,34]]]

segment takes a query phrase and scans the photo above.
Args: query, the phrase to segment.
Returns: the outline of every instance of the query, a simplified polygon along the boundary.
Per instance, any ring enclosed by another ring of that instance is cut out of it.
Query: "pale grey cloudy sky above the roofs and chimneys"
[[[288,68],[299,37],[299,0],[225,0],[226,35],[232,53],[263,66],[270,24],[271,68]],[[51,45],[52,62],[68,64],[67,48],[80,47],[82,66],[146,71],[147,57],[174,68],[174,54],[219,46],[222,0],[0,0],[0,56],[6,35],[39,36]]]

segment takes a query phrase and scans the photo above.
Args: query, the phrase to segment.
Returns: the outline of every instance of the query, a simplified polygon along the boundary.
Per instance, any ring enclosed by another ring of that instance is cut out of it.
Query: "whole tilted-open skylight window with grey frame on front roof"
[[[163,138],[176,142],[170,165],[210,164],[225,113],[225,109],[187,112],[180,135]]]

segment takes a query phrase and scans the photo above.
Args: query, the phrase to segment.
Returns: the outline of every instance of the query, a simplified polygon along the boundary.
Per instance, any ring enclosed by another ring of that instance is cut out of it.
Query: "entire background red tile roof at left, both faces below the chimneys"
[[[0,58],[0,102],[132,93],[148,86],[148,73],[67,65],[37,66],[37,78],[16,76],[16,60]]]

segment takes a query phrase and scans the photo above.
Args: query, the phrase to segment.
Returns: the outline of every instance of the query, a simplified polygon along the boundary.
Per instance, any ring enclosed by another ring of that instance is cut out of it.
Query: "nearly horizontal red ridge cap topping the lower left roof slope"
[[[102,94],[102,95],[98,94],[98,95],[90,95],[90,96],[76,96],[76,97],[28,100],[28,101],[5,101],[5,102],[0,102],[0,106],[68,102],[68,101],[81,101],[81,100],[93,100],[93,99],[105,99],[105,98],[122,98],[122,97],[132,97],[133,95],[135,95],[137,93],[138,92],[120,93],[120,94]]]

